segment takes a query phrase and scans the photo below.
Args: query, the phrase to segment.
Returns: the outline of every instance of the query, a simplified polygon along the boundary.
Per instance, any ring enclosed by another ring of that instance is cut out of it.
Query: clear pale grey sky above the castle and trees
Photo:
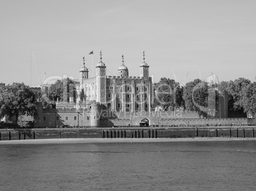
[[[91,77],[100,51],[108,76],[118,76],[122,55],[129,76],[139,76],[145,51],[154,82],[211,74],[253,82],[255,10],[255,0],[1,0],[0,82],[78,79],[83,56]]]

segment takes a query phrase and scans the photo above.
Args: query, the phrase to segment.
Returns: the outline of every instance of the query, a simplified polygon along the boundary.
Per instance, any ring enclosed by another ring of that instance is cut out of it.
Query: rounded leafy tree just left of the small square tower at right
[[[208,84],[200,79],[187,82],[183,88],[185,109],[197,111],[199,116],[206,116],[208,111]]]

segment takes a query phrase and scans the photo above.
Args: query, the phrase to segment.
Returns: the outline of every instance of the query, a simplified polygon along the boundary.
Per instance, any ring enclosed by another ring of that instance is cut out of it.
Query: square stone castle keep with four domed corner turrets
[[[89,70],[80,69],[79,84],[76,85],[76,103],[100,103],[107,110],[117,112],[150,112],[152,103],[152,78],[149,77],[149,65],[143,62],[139,65],[139,77],[129,76],[125,66],[124,55],[122,64],[118,67],[118,76],[106,76],[106,67],[100,53],[100,62],[96,66],[96,77],[89,77]],[[83,105],[83,104],[77,104]]]

